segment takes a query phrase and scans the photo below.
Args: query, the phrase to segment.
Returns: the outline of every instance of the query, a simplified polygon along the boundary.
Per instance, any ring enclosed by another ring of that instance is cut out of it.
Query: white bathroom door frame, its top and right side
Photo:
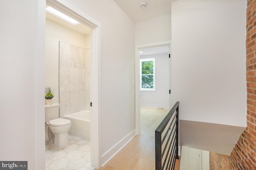
[[[94,20],[79,8],[76,8],[66,0],[46,0],[46,4],[56,10],[78,20],[91,28],[90,35],[90,102],[91,107],[91,165],[99,168],[101,165],[101,143],[100,143],[100,44],[101,24]]]

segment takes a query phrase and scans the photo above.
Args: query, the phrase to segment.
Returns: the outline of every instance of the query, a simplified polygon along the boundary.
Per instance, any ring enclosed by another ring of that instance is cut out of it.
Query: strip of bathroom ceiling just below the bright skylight
[[[65,20],[62,20],[61,18],[51,14],[50,12],[46,12],[46,18],[50,19],[50,20],[53,20],[63,26],[66,26],[72,30],[75,30],[77,32],[80,32],[81,34],[90,34],[91,32],[91,29],[84,26],[83,24],[76,24],[76,25],[73,25],[73,24],[70,24],[69,22],[66,22]]]

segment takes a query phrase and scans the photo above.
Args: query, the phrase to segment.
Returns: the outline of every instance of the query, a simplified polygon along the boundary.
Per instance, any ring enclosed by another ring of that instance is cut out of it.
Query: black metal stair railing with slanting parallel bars
[[[178,115],[179,115],[179,102],[176,102],[174,107],[172,107],[170,112],[166,115],[164,120],[160,123],[158,128],[156,128],[155,130],[156,170],[163,170],[164,168],[165,170],[167,169],[170,170],[170,168],[172,168],[173,170],[176,162],[175,158],[179,159],[178,157],[178,132],[179,132]],[[167,127],[168,123],[170,123],[170,125]],[[175,127],[175,130],[174,130],[174,127]],[[162,139],[162,132],[164,132],[166,128],[168,128],[168,130],[166,130],[166,133],[164,134]],[[170,135],[168,135],[169,132],[170,132]],[[163,144],[165,146],[163,146]],[[166,150],[167,147],[168,149]],[[163,151],[162,151],[162,148],[164,148]],[[164,156],[165,156],[164,162],[162,162],[162,159]],[[167,164],[166,164],[166,160],[168,160]]]

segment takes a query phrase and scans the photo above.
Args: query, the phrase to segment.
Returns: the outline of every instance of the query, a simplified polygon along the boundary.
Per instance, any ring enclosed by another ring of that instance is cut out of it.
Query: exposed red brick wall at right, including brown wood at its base
[[[256,170],[256,0],[246,10],[247,127],[230,156],[210,153],[211,170]]]

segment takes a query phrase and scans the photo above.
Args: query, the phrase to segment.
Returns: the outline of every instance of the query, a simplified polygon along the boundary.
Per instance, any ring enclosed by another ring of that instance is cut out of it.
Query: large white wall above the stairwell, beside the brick
[[[246,1],[172,2],[172,94],[180,119],[246,126]]]

